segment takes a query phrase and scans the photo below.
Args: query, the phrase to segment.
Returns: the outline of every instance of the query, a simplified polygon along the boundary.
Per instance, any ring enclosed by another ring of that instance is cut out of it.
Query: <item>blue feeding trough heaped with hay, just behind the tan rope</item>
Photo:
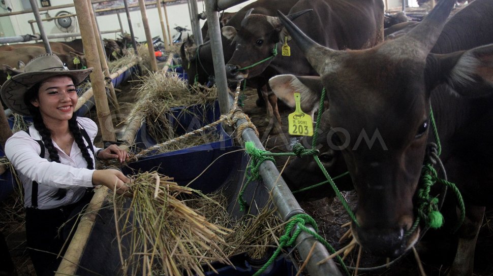
[[[213,104],[206,108],[204,108],[203,106],[173,108],[171,114],[172,115],[168,117],[168,120],[170,125],[173,126],[173,130],[176,136],[183,135],[185,133],[199,129],[204,125],[213,123],[217,121],[221,115],[218,101],[215,101]],[[178,151],[168,152],[165,153],[165,155],[175,155],[189,151],[217,149],[233,145],[233,140],[231,136],[224,131],[221,124],[216,126],[215,132],[219,134],[220,137],[222,137],[220,141],[202,144]],[[158,144],[156,140],[148,133],[147,124],[145,122],[142,123],[141,127],[137,131],[135,144],[139,149],[147,149]]]

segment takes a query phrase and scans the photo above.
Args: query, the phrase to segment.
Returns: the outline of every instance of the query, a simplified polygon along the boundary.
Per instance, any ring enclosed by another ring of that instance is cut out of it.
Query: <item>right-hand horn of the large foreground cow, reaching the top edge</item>
[[[437,6],[414,29],[406,34],[405,39],[417,41],[424,48],[426,52],[423,58],[426,58],[428,52],[432,50],[437,42],[454,4],[455,0],[438,2]]]

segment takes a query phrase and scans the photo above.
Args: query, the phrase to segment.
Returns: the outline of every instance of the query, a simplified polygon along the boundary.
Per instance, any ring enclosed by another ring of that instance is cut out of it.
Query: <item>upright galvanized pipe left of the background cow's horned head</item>
[[[221,114],[227,114],[231,103],[226,79],[221,29],[219,27],[219,13],[214,0],[205,0],[205,13],[209,27],[210,46],[211,49],[214,49],[212,51],[212,62],[214,64],[215,84],[218,87],[219,108]]]

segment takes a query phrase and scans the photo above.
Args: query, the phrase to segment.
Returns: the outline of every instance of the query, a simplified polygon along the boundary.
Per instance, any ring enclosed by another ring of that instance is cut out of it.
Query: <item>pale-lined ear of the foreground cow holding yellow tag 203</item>
[[[318,108],[323,88],[320,77],[297,77],[294,75],[272,77],[269,80],[269,86],[275,95],[290,107],[295,107],[294,93],[300,93],[301,110],[312,115]]]

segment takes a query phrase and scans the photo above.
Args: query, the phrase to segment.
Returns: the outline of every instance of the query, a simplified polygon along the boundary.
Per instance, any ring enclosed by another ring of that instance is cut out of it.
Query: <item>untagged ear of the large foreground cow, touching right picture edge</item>
[[[493,93],[493,44],[435,55],[448,85],[463,96]]]

